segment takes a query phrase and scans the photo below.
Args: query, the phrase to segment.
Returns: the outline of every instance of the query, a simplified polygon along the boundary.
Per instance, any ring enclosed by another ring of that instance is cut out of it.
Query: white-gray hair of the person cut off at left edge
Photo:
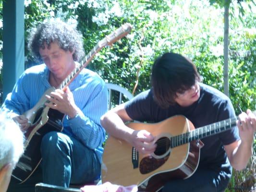
[[[23,132],[7,112],[0,110],[0,169],[9,163],[14,168],[23,152]]]

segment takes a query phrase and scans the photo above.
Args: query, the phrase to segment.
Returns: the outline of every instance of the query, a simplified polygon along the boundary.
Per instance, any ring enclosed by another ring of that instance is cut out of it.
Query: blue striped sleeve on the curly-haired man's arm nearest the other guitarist
[[[105,141],[105,130],[100,124],[100,117],[108,110],[108,89],[98,76],[79,80],[73,92],[74,101],[79,113],[72,119],[66,116],[67,124],[73,134],[85,146],[95,149]]]

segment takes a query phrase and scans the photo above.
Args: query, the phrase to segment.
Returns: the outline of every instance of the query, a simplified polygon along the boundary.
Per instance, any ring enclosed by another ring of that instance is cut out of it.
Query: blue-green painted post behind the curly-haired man
[[[24,72],[24,0],[3,0],[4,100]]]

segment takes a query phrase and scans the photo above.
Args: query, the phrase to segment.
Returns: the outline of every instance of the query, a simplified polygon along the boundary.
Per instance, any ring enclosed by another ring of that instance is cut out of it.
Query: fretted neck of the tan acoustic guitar
[[[256,111],[254,111],[253,113],[256,114]],[[225,132],[227,130],[230,130],[232,129],[232,127],[236,126],[237,119],[238,117],[233,117],[227,120],[221,120],[219,122],[212,123],[210,125],[196,128],[190,132],[173,136],[170,138],[171,148],[189,143],[191,141],[202,139],[211,135],[215,135],[220,132]]]

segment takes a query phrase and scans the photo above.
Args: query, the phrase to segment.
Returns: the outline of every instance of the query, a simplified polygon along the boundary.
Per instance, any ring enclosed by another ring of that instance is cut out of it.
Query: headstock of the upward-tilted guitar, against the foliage
[[[128,33],[131,32],[132,25],[131,24],[123,24],[121,27],[116,29],[113,33],[106,36],[104,39],[98,42],[98,46],[103,48],[107,45],[112,45],[117,40],[121,39],[122,37],[126,36]]]

